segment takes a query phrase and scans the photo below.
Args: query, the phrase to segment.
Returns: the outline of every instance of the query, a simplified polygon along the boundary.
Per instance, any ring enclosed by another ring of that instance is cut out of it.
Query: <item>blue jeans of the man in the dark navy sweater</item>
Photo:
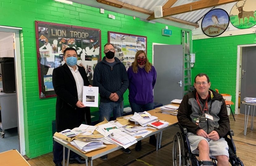
[[[108,103],[102,103],[100,102],[99,106],[99,122],[104,121],[104,117],[107,121],[109,121],[111,113],[114,115],[114,120],[116,120],[118,117],[123,116],[124,111],[124,101],[122,102],[108,102]]]

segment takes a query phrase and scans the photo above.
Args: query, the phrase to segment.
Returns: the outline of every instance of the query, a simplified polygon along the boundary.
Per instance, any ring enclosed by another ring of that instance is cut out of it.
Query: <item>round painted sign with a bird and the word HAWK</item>
[[[229,14],[223,9],[213,9],[205,14],[202,31],[210,37],[221,35],[229,26]]]

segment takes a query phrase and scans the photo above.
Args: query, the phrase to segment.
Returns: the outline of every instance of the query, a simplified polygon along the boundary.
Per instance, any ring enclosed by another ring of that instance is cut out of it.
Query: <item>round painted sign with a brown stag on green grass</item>
[[[247,29],[256,24],[256,1],[237,2],[230,11],[230,22],[239,29]]]

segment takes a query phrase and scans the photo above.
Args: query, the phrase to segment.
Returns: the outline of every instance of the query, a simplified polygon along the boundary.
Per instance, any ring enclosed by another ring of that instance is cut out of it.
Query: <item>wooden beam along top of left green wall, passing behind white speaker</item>
[[[147,10],[147,9],[143,9],[141,7],[138,7],[138,6],[134,6],[134,5],[130,5],[128,3],[124,3],[124,2],[120,2],[118,0],[107,0],[108,2],[112,2],[112,3],[116,3],[118,5],[122,5],[124,9],[127,9],[127,10],[132,10],[132,11],[135,11],[135,12],[138,12],[138,13],[143,13],[143,14],[147,14],[147,15],[152,15],[152,12],[150,10]],[[170,0],[169,0],[170,1]],[[169,2],[168,1],[168,2]],[[177,1],[177,0],[172,0],[172,1]],[[185,21],[185,20],[181,20],[181,19],[178,19],[178,18],[173,18],[173,17],[166,17],[166,18],[163,18],[163,19],[166,19],[166,20],[169,20],[169,21],[173,21],[173,22],[179,22],[181,24],[185,24],[185,25],[190,25],[190,26],[197,26],[196,23],[194,22],[189,22],[189,21]]]

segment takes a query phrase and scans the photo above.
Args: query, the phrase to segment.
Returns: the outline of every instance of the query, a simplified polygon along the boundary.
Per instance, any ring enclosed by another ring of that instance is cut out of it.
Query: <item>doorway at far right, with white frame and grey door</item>
[[[244,97],[256,97],[256,44],[237,46],[236,114],[245,113]],[[240,108],[241,106],[241,108]]]

